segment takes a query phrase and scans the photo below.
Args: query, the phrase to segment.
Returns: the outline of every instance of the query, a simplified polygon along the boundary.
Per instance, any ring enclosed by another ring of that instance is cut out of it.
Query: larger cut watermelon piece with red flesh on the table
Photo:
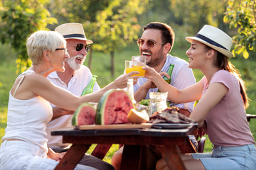
[[[127,123],[127,115],[134,108],[132,98],[127,91],[112,89],[107,91],[97,105],[96,125]]]

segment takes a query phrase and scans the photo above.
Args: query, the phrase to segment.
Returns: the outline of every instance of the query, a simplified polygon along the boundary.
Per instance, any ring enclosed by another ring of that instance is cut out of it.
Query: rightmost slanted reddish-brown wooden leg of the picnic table
[[[164,145],[161,145],[158,147],[158,149],[161,152],[161,156],[165,159],[169,169],[186,170],[185,165],[183,164],[183,161],[179,156],[177,148],[175,146],[166,147]]]

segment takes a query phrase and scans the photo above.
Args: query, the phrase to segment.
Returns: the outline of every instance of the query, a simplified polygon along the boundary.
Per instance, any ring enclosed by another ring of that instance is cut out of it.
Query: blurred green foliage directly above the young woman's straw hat
[[[223,27],[220,21],[222,21],[227,0],[169,1],[171,1],[171,11],[180,20],[178,24],[185,26],[188,29],[188,33],[196,33],[205,24],[218,28]]]

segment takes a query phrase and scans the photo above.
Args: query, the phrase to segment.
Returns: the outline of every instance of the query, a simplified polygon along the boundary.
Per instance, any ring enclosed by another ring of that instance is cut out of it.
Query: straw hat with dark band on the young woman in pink
[[[194,37],[186,37],[188,42],[192,40],[197,40],[202,42],[209,47],[212,47],[214,50],[222,53],[228,58],[233,57],[233,54],[230,52],[232,46],[232,38],[222,30],[215,28],[213,26],[205,25],[198,34]]]

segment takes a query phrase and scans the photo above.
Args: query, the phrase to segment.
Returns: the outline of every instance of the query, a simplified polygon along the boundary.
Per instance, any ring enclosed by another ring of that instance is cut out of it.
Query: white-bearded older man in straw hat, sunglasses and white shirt
[[[48,79],[53,84],[60,86],[63,89],[70,91],[76,96],[82,94],[82,90],[87,86],[92,79],[92,73],[90,69],[85,67],[85,57],[90,50],[92,40],[89,40],[85,36],[84,29],[81,23],[64,23],[55,31],[63,35],[67,41],[67,48],[70,57],[65,60],[65,72],[53,72],[48,76]],[[100,86],[95,82],[93,91],[100,90]],[[53,106],[53,120],[47,125],[48,146],[55,152],[65,152],[69,149],[69,144],[62,143],[61,136],[52,136],[50,132],[60,128],[70,128],[71,119],[73,117],[73,111],[67,111],[63,108]],[[79,164],[92,166],[97,169],[114,169],[111,164],[102,161],[90,154],[85,154],[82,157]]]

